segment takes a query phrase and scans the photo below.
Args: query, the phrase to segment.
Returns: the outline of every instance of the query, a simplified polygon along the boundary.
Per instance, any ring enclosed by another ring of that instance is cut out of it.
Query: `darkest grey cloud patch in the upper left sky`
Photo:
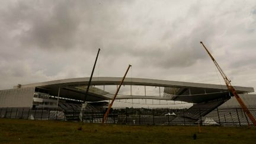
[[[63,1],[64,2],[64,1]],[[25,46],[34,43],[42,49],[62,48],[70,49],[75,46],[75,34],[78,30],[79,18],[72,12],[73,5],[70,2],[60,2],[54,5],[47,17],[28,14],[32,17],[31,28],[25,31],[21,38]],[[36,12],[36,11],[31,11]]]

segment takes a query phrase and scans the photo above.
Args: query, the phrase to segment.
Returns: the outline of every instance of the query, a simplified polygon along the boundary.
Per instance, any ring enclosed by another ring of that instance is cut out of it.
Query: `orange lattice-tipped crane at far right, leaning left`
[[[242,101],[242,99],[239,97],[239,95],[237,94],[235,88],[231,85],[231,81],[229,80],[228,76],[225,75],[225,73],[222,71],[222,69],[220,68],[219,64],[216,62],[216,60],[213,58],[213,56],[210,54],[209,50],[207,50],[206,46],[204,46],[203,42],[200,41],[200,43],[203,45],[204,49],[206,50],[206,52],[208,53],[208,55],[211,57],[211,59],[213,60],[213,63],[215,63],[217,69],[220,72],[220,75],[222,75],[222,78],[225,81],[226,86],[228,87],[228,90],[230,92],[232,92],[233,96],[235,96],[236,100],[238,101],[238,103],[241,105],[242,110],[247,114],[247,116],[249,117],[249,119],[252,121],[252,123],[254,124],[254,126],[256,127],[256,120],[254,118],[254,116],[251,114],[251,112],[248,110],[247,105],[245,105],[244,101]]]

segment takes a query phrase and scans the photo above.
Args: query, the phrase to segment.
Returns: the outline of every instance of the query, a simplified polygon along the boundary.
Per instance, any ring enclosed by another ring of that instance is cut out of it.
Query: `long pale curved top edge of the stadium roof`
[[[120,77],[95,77],[92,78],[91,85],[119,85],[122,78]],[[21,87],[44,87],[47,85],[87,85],[89,78],[71,78],[60,79],[55,81],[38,82],[33,84],[22,85]],[[196,82],[180,82],[180,81],[165,81],[159,79],[146,78],[125,78],[123,85],[146,85],[156,87],[180,87],[180,88],[213,88],[227,89],[226,85],[202,84]],[[15,86],[16,87],[16,86]],[[237,87],[237,91],[254,92],[252,87]]]

